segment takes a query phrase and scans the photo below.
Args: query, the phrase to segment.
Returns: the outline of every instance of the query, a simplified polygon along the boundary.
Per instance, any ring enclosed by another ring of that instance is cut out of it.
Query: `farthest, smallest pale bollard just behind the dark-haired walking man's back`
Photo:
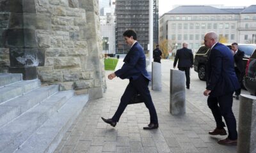
[[[162,91],[161,63],[152,62],[152,90]]]

